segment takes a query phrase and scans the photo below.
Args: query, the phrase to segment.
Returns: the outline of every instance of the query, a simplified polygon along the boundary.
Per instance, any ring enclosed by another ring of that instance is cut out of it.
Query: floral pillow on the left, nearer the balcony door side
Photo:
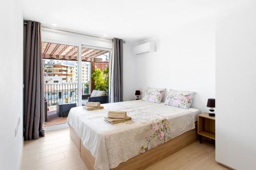
[[[147,102],[161,103],[165,89],[148,88],[142,99]]]

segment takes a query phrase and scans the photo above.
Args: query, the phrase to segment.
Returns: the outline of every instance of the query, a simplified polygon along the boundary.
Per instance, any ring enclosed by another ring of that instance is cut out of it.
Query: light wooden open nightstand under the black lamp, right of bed
[[[198,134],[200,143],[202,136],[215,140],[215,116],[209,116],[208,113],[198,115]]]

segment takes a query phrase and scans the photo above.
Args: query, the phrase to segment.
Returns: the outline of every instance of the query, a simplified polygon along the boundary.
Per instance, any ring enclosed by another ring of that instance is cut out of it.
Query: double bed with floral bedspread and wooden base
[[[70,136],[88,169],[143,169],[197,140],[198,109],[181,109],[142,100],[103,104],[104,109],[70,110]],[[132,120],[111,125],[109,110]]]

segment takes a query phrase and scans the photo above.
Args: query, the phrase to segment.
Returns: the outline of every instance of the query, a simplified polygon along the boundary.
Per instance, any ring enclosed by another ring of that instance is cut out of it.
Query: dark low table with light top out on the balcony
[[[68,103],[58,101],[56,107],[57,107],[57,115],[59,117],[68,117],[70,109],[72,107],[76,107],[76,103],[73,101],[69,101]]]

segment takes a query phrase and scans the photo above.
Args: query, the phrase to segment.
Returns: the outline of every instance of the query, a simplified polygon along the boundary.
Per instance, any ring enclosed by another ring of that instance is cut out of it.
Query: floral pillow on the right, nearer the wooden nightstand
[[[178,91],[170,89],[165,100],[165,105],[175,106],[183,109],[189,109],[192,104],[195,92],[192,91]]]

